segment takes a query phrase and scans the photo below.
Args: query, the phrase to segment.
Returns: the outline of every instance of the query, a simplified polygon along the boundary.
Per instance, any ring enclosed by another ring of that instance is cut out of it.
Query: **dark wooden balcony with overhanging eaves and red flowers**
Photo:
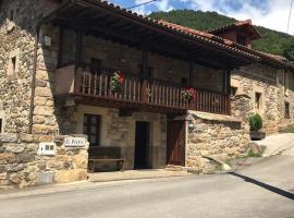
[[[60,29],[57,96],[139,111],[231,113],[230,70],[252,60],[121,9],[81,2],[44,20]],[[118,92],[111,81],[119,71]]]

